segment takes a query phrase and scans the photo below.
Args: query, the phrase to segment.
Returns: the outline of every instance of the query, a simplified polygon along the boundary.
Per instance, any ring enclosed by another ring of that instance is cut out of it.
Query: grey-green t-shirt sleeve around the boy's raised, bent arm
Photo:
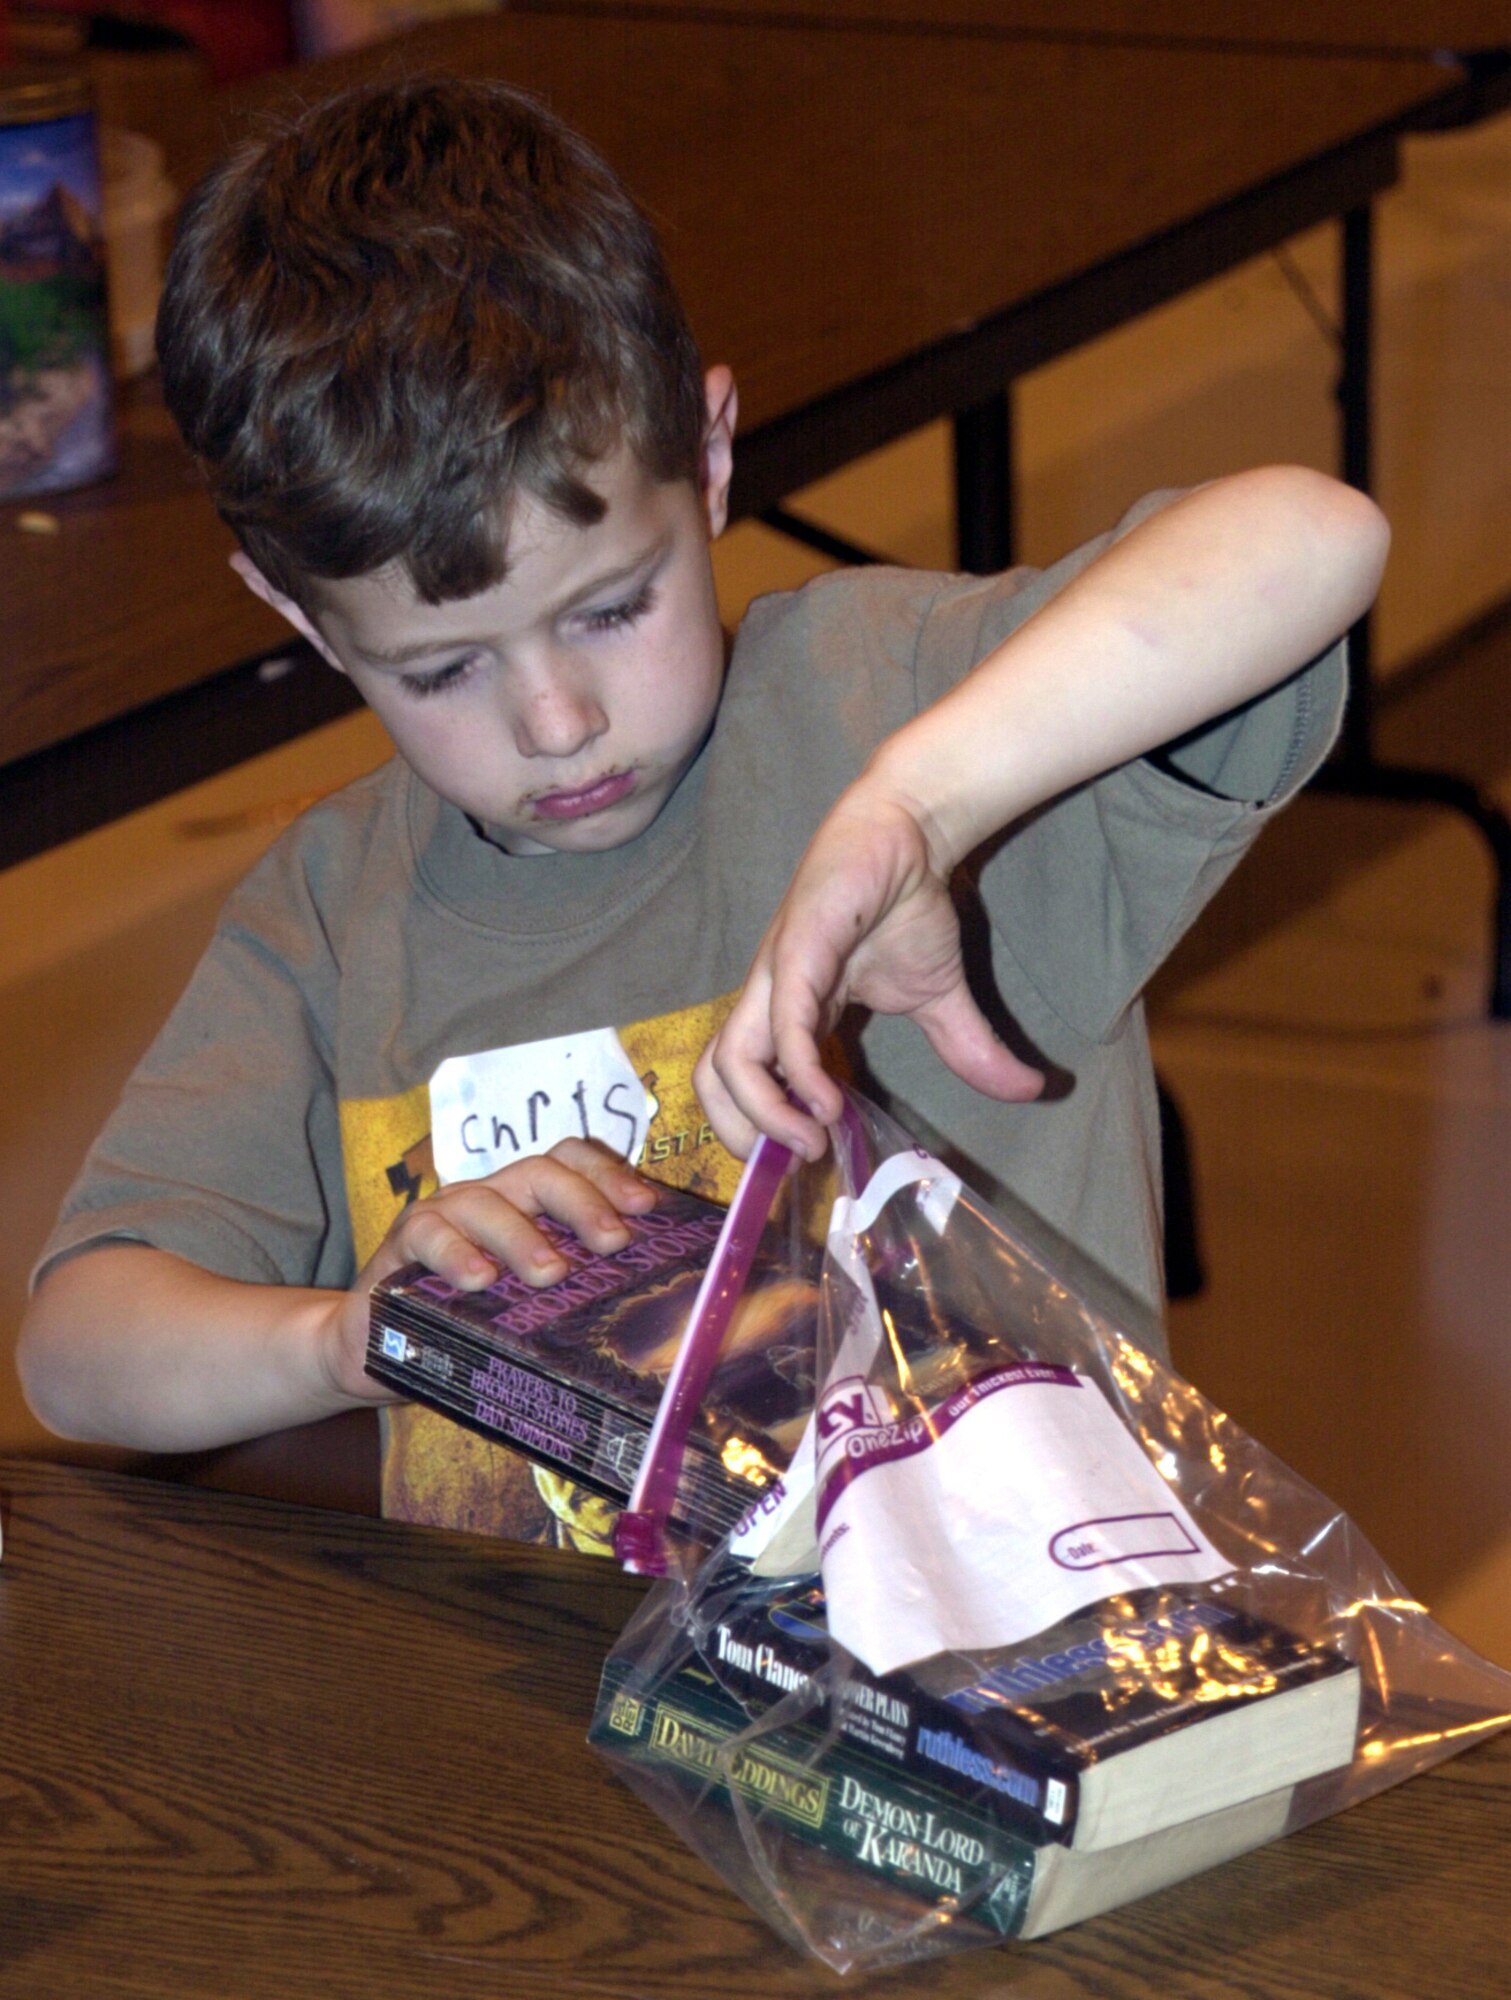
[[[1163,496],[1141,502],[1115,534]],[[1113,540],[1043,572],[945,588],[919,636],[919,702],[937,700]],[[1009,828],[973,870],[1001,998],[1045,1056],[1117,1030],[1265,822],[1325,758],[1343,714],[1345,642],[1159,752]]]

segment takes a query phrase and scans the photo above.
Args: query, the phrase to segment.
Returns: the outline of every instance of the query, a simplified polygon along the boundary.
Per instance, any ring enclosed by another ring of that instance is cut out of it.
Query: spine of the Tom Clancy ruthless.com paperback
[[[833,1726],[825,1648],[785,1638],[763,1606],[736,1608],[714,1624],[702,1654],[718,1682],[752,1708],[769,1708],[809,1688],[813,1726]],[[835,1670],[835,1680],[837,1732],[845,1742],[1035,1844],[1073,1842],[1079,1802],[1073,1768],[1049,1766],[1029,1744],[987,1740],[957,1708],[903,1674],[881,1678],[851,1660],[843,1676]]]

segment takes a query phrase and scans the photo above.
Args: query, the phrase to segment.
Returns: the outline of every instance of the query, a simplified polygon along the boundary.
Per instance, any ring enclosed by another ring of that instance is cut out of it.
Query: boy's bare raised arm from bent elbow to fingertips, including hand
[[[851,1002],[911,1016],[973,1090],[1031,1096],[1041,1078],[969,994],[953,868],[1035,806],[1315,658],[1371,602],[1385,544],[1375,506],[1321,474],[1217,480],[1113,542],[889,736],[813,834],[698,1066],[726,1146],[748,1152],[769,1132],[817,1158],[841,1110],[819,1042]]]

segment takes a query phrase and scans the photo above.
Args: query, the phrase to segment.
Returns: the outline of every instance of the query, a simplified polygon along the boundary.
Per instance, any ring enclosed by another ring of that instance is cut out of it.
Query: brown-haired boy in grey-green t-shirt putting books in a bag
[[[757,1130],[817,1154],[831,1030],[1159,1342],[1137,996],[1327,748],[1365,498],[1281,468],[1045,576],[823,578],[726,660],[730,372],[608,168],[454,80],[230,158],[160,356],[240,574],[398,760],[252,872],[90,1154],[22,1334],[46,1422],[192,1450],[378,1402],[380,1274],[544,1284],[532,1216],[618,1248],[626,1162],[728,1196]],[[386,1414],[390,1512],[602,1544]]]

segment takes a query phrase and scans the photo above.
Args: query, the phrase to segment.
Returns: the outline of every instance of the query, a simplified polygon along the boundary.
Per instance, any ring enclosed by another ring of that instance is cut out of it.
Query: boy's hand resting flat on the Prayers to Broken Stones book
[[[536,1216],[566,1224],[590,1250],[612,1254],[630,1242],[626,1216],[656,1206],[656,1188],[592,1140],[566,1138],[550,1152],[514,1160],[484,1180],[456,1180],[414,1202],[368,1258],[332,1324],[330,1372],[348,1396],[392,1402],[364,1370],[368,1294],[400,1264],[424,1264],[462,1292],[480,1292],[502,1270],[548,1286],[568,1262],[536,1228]]]

